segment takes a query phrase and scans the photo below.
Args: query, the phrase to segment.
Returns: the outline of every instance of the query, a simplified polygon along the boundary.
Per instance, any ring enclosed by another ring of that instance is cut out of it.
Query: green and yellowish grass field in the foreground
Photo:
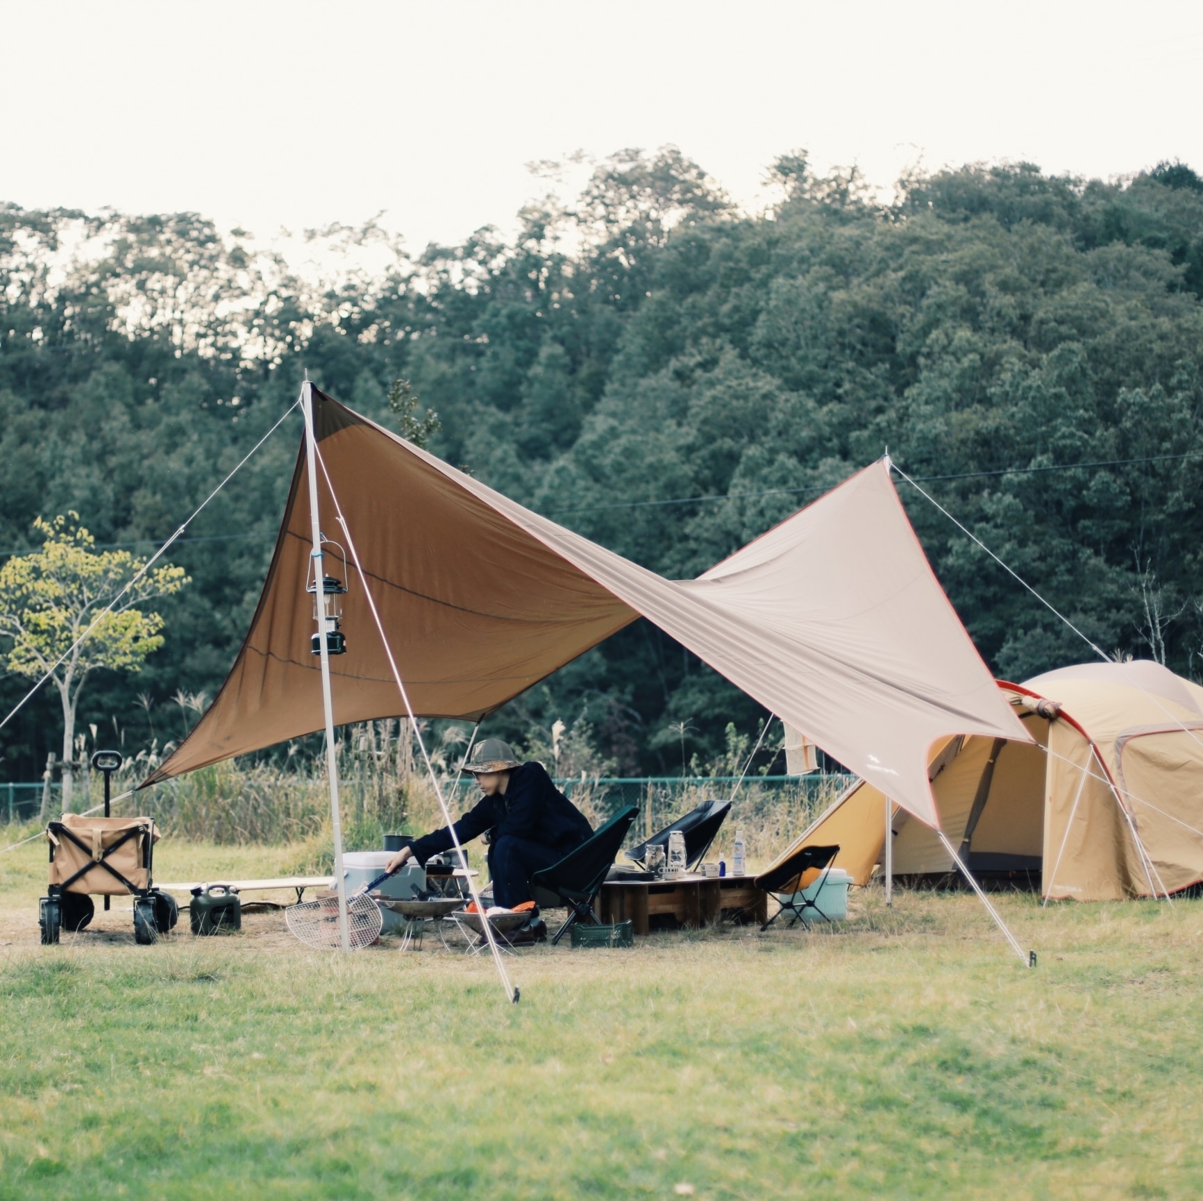
[[[161,878],[289,848],[160,845]],[[37,946],[0,857],[0,1197],[1185,1197],[1203,1187],[1203,907],[854,898],[838,930],[510,960]],[[186,923],[186,918],[185,918]],[[428,945],[427,945],[428,946]]]

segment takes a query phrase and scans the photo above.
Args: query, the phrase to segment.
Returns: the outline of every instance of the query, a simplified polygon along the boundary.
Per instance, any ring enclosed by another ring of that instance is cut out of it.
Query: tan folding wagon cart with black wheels
[[[59,941],[59,930],[82,930],[95,912],[93,897],[134,898],[134,939],[154,942],[179,918],[173,897],[152,883],[154,845],[149,817],[79,817],[64,814],[46,828],[51,874],[41,899],[42,943]]]

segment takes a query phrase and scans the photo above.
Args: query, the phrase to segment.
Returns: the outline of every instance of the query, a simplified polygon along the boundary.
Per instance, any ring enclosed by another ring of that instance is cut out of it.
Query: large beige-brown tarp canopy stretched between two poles
[[[480,718],[642,615],[925,821],[937,820],[932,743],[1026,736],[932,575],[885,463],[699,579],[669,581],[313,396],[320,460],[419,715]],[[147,783],[322,727],[307,489],[301,455],[230,676]],[[325,478],[319,491],[322,532],[345,542]],[[396,716],[354,567],[343,629],[336,722]]]

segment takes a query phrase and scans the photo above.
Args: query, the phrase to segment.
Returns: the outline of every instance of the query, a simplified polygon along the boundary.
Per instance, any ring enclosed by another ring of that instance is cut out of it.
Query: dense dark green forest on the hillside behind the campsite
[[[512,237],[411,253],[371,223],[327,231],[348,266],[316,283],[195,213],[2,205],[0,551],[76,510],[99,545],[149,554],[306,371],[393,428],[404,380],[438,415],[434,452],[675,578],[888,450],[1108,653],[1203,676],[1203,179],[970,165],[885,202],[802,153],[771,178],[776,203],[748,214],[678,150],[623,152]],[[220,686],[300,436],[294,414],[172,548],[191,584],[162,603],[164,646],[83,693],[99,744],[178,739]],[[899,489],[991,670],[1091,657]],[[0,709],[26,687],[0,678]],[[609,771],[668,774],[760,717],[641,621],[486,733],[531,745],[561,718]],[[38,779],[59,723],[49,694],[26,705],[0,730],[0,779]]]

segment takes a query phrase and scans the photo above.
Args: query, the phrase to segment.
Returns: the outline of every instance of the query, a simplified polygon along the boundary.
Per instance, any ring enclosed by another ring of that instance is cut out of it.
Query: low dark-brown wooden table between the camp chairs
[[[769,894],[752,876],[677,876],[676,880],[609,880],[602,886],[600,913],[606,924],[632,923],[647,934],[653,917],[674,917],[694,929],[740,917],[759,925],[769,919]]]

